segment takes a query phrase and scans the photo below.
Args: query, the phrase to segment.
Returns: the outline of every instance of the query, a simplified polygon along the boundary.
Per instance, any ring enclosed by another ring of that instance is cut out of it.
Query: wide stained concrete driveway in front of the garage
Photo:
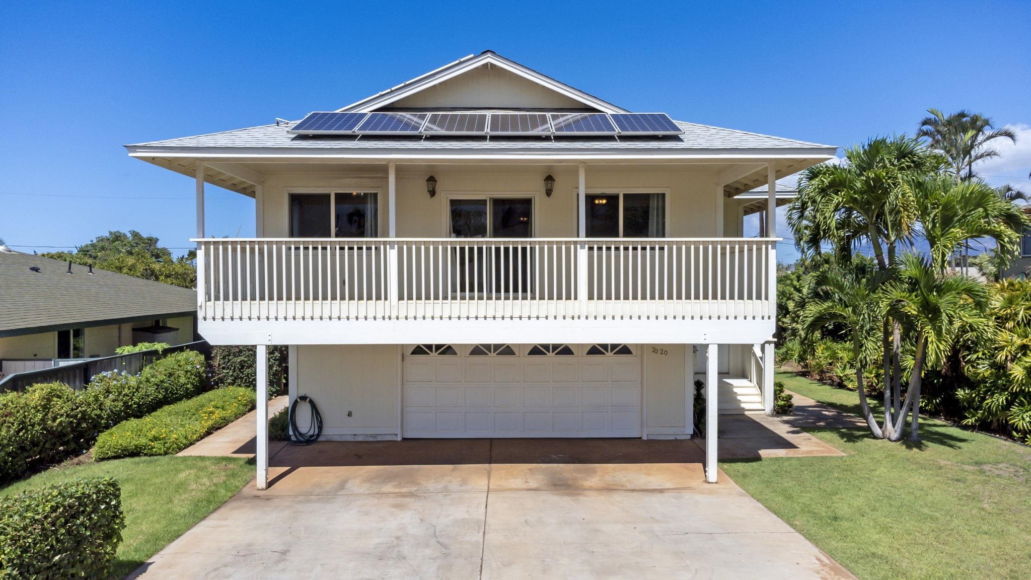
[[[694,441],[288,446],[136,572],[164,578],[853,578]]]

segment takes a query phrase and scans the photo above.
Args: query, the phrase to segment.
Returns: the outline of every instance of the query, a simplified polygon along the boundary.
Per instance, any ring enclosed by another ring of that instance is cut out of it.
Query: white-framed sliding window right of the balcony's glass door
[[[665,193],[587,194],[588,237],[665,237]]]

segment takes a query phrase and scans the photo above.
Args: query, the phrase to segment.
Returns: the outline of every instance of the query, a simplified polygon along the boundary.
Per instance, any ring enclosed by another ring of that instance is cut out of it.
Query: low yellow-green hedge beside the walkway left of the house
[[[100,433],[93,448],[93,458],[178,453],[214,429],[242,417],[254,407],[253,389],[226,387],[208,391]]]

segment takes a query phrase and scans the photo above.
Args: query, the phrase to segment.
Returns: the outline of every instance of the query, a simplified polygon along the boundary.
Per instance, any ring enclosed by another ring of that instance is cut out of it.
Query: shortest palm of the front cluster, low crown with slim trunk
[[[920,441],[920,388],[925,363],[940,365],[962,337],[987,337],[992,319],[986,314],[989,290],[967,276],[947,275],[930,259],[906,254],[894,280],[884,287],[884,305],[905,321],[916,352],[901,417],[911,405],[909,439]]]

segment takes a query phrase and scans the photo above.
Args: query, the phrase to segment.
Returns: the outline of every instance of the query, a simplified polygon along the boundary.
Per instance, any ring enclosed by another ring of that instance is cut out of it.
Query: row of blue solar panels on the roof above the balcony
[[[664,112],[311,112],[297,135],[679,135]]]

